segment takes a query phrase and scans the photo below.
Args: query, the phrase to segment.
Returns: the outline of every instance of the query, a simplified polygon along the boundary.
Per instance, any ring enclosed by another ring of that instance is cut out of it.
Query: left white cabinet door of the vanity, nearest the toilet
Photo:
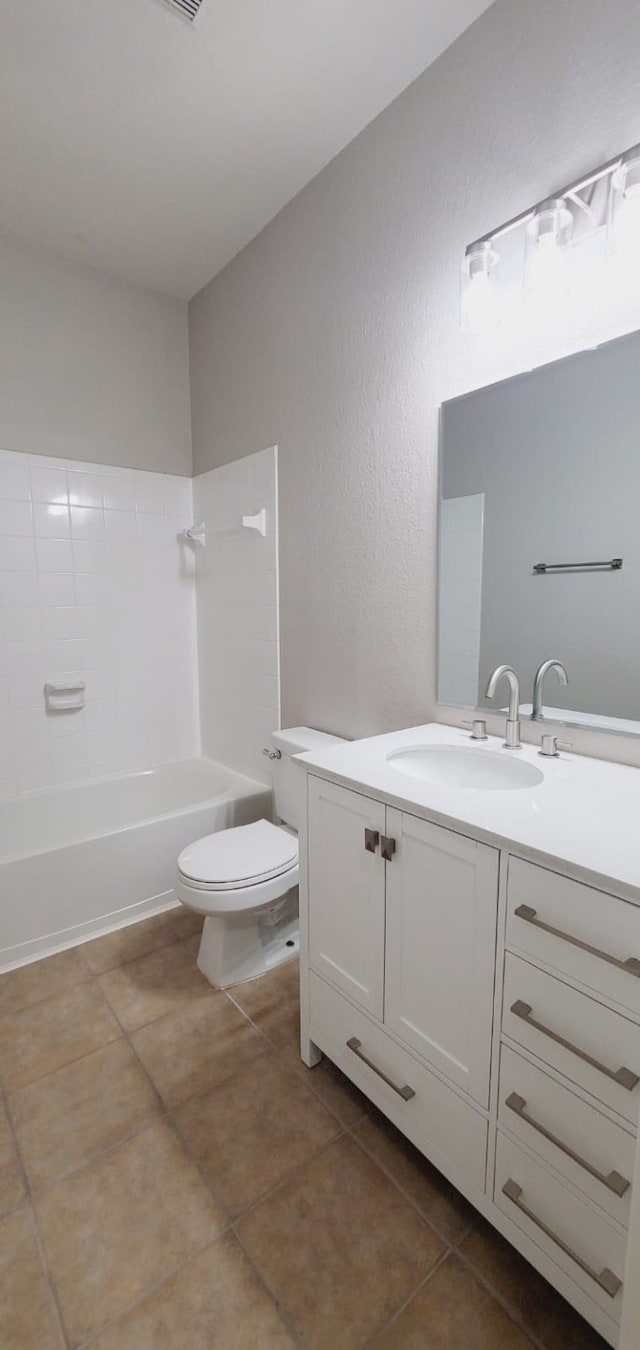
[[[309,961],[361,1007],[382,1019],[385,864],[379,842],[385,807],[359,792],[309,783]]]

